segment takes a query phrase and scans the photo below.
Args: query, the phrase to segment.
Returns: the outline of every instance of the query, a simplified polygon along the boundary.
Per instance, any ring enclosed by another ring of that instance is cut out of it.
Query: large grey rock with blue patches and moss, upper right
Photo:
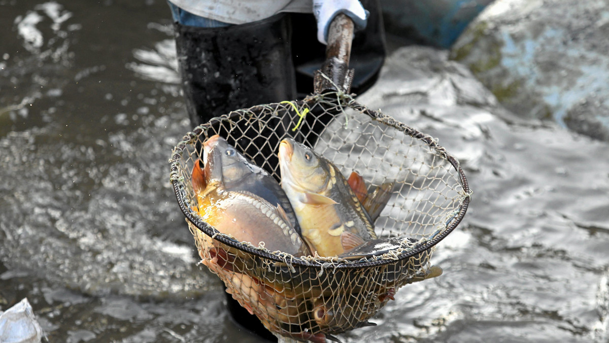
[[[609,1],[497,0],[454,44],[499,102],[609,140]]]

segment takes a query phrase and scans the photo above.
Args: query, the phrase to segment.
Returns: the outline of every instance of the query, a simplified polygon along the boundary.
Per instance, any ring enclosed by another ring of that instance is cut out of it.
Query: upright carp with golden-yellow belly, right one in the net
[[[370,216],[333,163],[291,138],[281,141],[278,157],[281,188],[313,252],[336,256],[376,238]]]

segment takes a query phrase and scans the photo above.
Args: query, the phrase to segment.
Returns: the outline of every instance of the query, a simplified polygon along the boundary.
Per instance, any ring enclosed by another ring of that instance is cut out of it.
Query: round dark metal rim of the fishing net
[[[323,96],[327,96],[327,95],[328,95],[328,93],[314,94],[313,96],[309,96],[301,101],[295,102],[295,104],[303,105],[303,104],[306,104],[307,102],[312,102],[312,101],[315,101],[316,99],[319,99],[320,96],[323,97]],[[465,172],[463,172],[463,169],[461,168],[459,161],[456,158],[454,158],[451,154],[449,154],[444,147],[440,146],[438,144],[437,140],[435,140],[432,136],[427,135],[426,133],[422,133],[410,126],[407,126],[403,122],[397,121],[396,119],[393,119],[391,116],[385,115],[381,111],[370,110],[370,108],[367,108],[364,105],[359,104],[358,102],[354,101],[354,99],[350,95],[344,94],[342,92],[338,92],[338,93],[336,93],[336,96],[337,96],[337,99],[338,98],[343,99],[343,100],[347,99],[349,107],[351,107],[355,110],[358,110],[361,113],[364,113],[365,115],[369,116],[370,118],[372,118],[382,124],[393,127],[394,129],[399,130],[399,131],[405,133],[406,135],[409,135],[412,138],[420,140],[423,143],[425,143],[429,148],[435,150],[435,152],[437,152],[441,157],[443,157],[443,158],[445,158],[445,160],[449,161],[449,163],[451,163],[452,167],[457,171],[457,174],[459,175],[460,186],[462,186],[463,192],[466,194],[466,196],[464,196],[462,201],[460,202],[458,210],[455,211],[453,216],[449,217],[448,221],[446,222],[446,228],[444,230],[442,230],[442,232],[439,233],[438,235],[435,235],[433,239],[429,239],[424,242],[421,242],[421,243],[417,244],[413,249],[404,250],[399,255],[392,258],[391,260],[379,259],[379,260],[373,260],[373,261],[357,261],[357,262],[353,262],[353,263],[333,263],[333,267],[336,269],[354,269],[354,268],[362,268],[362,267],[382,266],[384,264],[390,264],[390,263],[395,263],[396,261],[405,260],[406,258],[410,258],[414,255],[417,255],[419,253],[422,253],[426,250],[431,249],[438,242],[442,241],[442,239],[444,239],[446,236],[448,236],[448,234],[451,233],[452,230],[454,230],[457,227],[457,225],[460,224],[460,222],[463,219],[463,216],[465,216],[468,205],[470,203],[471,190],[469,188],[467,179],[465,177]],[[266,108],[269,108],[269,106],[272,106],[272,105],[276,105],[276,104],[257,105],[257,106],[253,106],[250,108],[235,110],[235,111],[231,111],[227,115],[222,115],[218,118],[230,120],[231,118],[240,117],[240,116],[244,115],[245,113],[251,113],[251,112],[264,110]],[[188,219],[189,222],[191,222],[195,227],[197,227],[197,229],[199,229],[201,232],[205,233],[206,235],[210,236],[211,238],[216,239],[217,241],[222,242],[223,244],[226,244],[227,246],[233,247],[233,248],[241,250],[243,252],[251,253],[252,255],[266,258],[268,260],[272,260],[275,262],[285,263],[286,262],[285,257],[282,258],[281,256],[276,255],[275,253],[269,252],[269,250],[256,249],[255,247],[244,245],[241,242],[236,241],[235,239],[231,239],[231,238],[228,238],[227,236],[220,235],[220,232],[218,230],[216,230],[216,228],[212,227],[205,221],[202,221],[200,219],[199,215],[196,214],[189,207],[188,200],[187,200],[188,196],[186,194],[187,192],[186,192],[186,186],[185,186],[185,179],[183,176],[180,176],[180,159],[182,157],[183,152],[185,152],[185,149],[188,146],[188,144],[191,144],[193,141],[197,140],[199,138],[199,136],[206,130],[206,127],[209,127],[209,124],[202,124],[200,126],[195,127],[195,129],[192,130],[191,132],[186,133],[186,135],[183,136],[182,140],[174,147],[172,155],[171,155],[171,159],[169,160],[169,163],[171,164],[170,181],[174,188],[174,193],[177,198],[178,205],[180,206],[180,210],[186,216],[186,219]],[[293,256],[289,260],[290,260],[290,264],[295,264],[297,266],[318,267],[318,268],[323,268],[323,267],[328,266],[328,258],[312,258],[312,259],[309,258],[307,260],[304,260],[298,256]]]

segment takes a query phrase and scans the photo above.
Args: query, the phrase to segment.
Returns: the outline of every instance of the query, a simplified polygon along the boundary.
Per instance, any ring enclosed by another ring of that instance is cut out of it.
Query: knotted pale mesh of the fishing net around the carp
[[[238,242],[202,221],[191,171],[202,143],[219,134],[280,180],[280,141],[292,137],[356,171],[369,189],[390,181],[391,197],[375,221],[378,238],[403,239],[392,249],[355,258],[270,252]],[[435,244],[465,215],[470,189],[459,163],[431,136],[343,93],[259,105],[212,119],[174,149],[171,182],[205,264],[244,308],[275,334],[323,342],[368,325],[401,286],[441,274],[431,266]]]

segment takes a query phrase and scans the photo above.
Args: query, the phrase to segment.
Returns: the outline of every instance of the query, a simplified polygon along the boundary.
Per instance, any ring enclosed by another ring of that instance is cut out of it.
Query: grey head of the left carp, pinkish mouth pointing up
[[[203,143],[203,154],[208,155],[211,149],[217,149],[222,158],[222,182],[232,188],[252,174],[268,175],[264,169],[247,160],[237,149],[228,144],[219,135],[211,136]]]

